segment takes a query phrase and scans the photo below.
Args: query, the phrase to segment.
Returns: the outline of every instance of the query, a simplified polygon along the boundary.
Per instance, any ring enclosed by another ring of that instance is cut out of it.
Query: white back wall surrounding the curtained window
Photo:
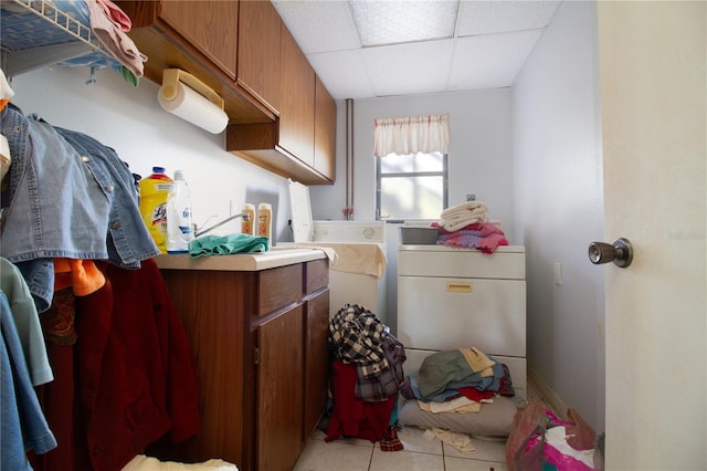
[[[341,220],[346,206],[346,104],[337,103],[337,181],[310,187],[314,219]],[[514,219],[510,88],[397,96],[354,102],[354,219],[376,219],[373,119],[450,114],[450,205],[475,193],[502,220],[510,243]],[[387,226],[386,320],[398,318],[398,226]]]

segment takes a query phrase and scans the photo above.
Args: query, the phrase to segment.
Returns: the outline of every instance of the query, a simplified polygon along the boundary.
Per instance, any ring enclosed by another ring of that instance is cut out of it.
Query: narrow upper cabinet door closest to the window
[[[336,102],[319,77],[315,87],[314,168],[336,180]]]

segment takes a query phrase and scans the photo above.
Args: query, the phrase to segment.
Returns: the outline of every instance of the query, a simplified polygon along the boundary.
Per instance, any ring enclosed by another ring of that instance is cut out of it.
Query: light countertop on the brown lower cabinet
[[[188,253],[178,255],[161,254],[157,255],[155,261],[157,262],[157,266],[162,270],[254,272],[325,258],[327,258],[327,253],[316,248],[273,248],[268,252],[211,255],[199,259],[192,259]]]

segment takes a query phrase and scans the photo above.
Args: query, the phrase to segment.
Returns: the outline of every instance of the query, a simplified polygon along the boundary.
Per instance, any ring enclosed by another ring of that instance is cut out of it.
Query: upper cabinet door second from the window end
[[[287,28],[283,28],[279,146],[313,168],[314,88],[314,69]]]

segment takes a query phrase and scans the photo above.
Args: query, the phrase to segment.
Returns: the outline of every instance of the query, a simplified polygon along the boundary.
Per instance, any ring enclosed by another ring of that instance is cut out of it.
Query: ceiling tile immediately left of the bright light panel
[[[305,54],[361,46],[346,1],[273,0],[273,4]]]

